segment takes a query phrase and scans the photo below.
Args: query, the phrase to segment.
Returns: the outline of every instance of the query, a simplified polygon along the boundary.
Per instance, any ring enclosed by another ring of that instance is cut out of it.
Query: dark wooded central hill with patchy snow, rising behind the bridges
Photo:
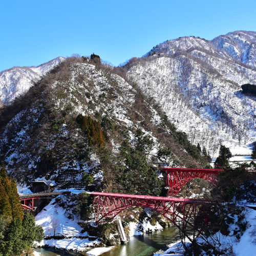
[[[98,189],[159,195],[158,161],[206,166],[201,149],[116,72],[99,59],[68,58],[2,108],[0,161],[8,173],[25,185],[61,184],[68,172],[79,183],[87,173]]]

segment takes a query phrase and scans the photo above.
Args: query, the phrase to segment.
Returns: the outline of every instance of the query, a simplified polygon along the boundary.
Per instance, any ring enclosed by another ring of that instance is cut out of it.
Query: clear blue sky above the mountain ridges
[[[180,36],[256,31],[256,1],[1,1],[0,71],[73,53],[117,66]]]

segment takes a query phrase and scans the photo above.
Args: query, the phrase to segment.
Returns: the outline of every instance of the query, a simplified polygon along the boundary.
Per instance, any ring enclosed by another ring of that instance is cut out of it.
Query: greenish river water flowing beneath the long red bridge
[[[151,256],[154,252],[165,247],[166,244],[178,240],[178,232],[175,227],[164,228],[163,230],[153,231],[151,234],[131,237],[126,245],[117,245],[112,250],[101,254],[102,256]],[[69,251],[55,250],[53,248],[36,249],[44,256],[70,256],[84,255]]]

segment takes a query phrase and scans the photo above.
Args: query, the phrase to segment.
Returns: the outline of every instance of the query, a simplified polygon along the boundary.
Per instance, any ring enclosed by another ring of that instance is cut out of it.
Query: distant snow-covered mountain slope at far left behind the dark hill
[[[57,57],[37,67],[13,67],[0,73],[0,107],[27,92],[33,82],[46,75],[65,58]]]

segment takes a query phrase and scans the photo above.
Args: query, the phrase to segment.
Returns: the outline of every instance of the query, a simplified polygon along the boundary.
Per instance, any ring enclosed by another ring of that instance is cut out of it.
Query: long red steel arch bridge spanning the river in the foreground
[[[126,194],[89,192],[93,196],[93,211],[95,223],[114,219],[121,211],[141,206],[150,208],[178,227],[185,235],[190,230],[193,239],[207,225],[209,220],[205,205],[215,202],[172,197],[152,197]]]

